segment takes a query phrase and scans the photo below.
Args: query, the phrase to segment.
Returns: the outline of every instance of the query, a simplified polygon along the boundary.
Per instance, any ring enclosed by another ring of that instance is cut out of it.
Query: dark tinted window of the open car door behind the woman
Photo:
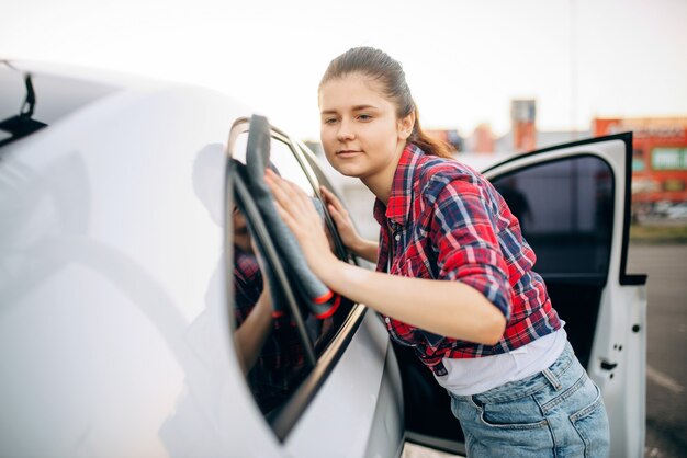
[[[602,159],[581,156],[493,180],[545,274],[608,271],[613,222],[613,174]]]

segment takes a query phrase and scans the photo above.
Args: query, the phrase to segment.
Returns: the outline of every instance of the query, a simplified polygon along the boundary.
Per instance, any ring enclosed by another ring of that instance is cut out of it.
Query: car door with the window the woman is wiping
[[[233,343],[238,359],[248,362],[245,382],[263,416],[261,434],[271,436],[279,456],[398,456],[403,446],[399,375],[386,331],[364,306],[346,298],[333,313],[308,309],[296,268],[277,240],[281,236],[270,228],[274,221],[270,222],[251,187],[251,181],[259,180],[249,170],[255,159],[250,149],[256,147],[251,137],[269,137],[268,167],[313,199],[320,199],[319,185],[330,187],[329,183],[305,147],[275,128],[255,131],[255,116],[239,119],[232,129],[233,169],[227,176],[234,184],[227,190],[227,205],[236,206],[233,218],[227,218],[226,234],[234,247],[227,266],[234,283]],[[326,210],[323,216],[333,250],[340,259],[356,262]],[[251,359],[247,348],[252,343],[244,339],[241,329],[259,310],[266,287],[275,307],[273,327]]]

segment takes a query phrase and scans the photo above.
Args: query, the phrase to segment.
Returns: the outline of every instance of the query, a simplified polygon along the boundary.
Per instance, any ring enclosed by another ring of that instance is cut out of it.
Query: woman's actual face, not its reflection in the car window
[[[379,82],[359,73],[329,80],[319,90],[319,112],[325,154],[339,173],[393,180],[415,118],[398,119]]]

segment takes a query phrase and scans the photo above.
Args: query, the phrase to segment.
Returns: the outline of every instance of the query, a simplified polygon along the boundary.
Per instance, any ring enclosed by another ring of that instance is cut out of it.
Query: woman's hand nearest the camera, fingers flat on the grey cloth
[[[323,273],[336,263],[337,257],[329,249],[329,242],[315,205],[299,186],[269,169],[264,181],[272,191],[279,216],[295,236],[307,265],[317,277],[323,279]]]

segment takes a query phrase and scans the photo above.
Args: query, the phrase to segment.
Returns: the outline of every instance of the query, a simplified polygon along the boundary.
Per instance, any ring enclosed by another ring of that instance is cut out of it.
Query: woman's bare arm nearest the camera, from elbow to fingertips
[[[279,215],[299,240],[308,266],[330,289],[439,335],[484,344],[500,340],[506,319],[482,293],[459,282],[392,276],[338,260],[329,250],[309,197],[270,170],[266,181],[279,203]],[[348,227],[340,210],[334,205],[330,210],[337,224]],[[363,252],[370,255],[371,244],[367,247]],[[370,257],[376,259],[376,248],[374,257]]]

